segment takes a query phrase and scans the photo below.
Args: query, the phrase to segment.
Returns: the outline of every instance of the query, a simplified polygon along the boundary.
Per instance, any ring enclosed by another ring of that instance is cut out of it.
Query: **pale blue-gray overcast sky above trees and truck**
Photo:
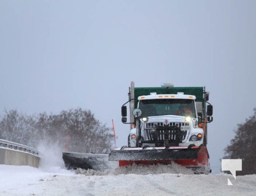
[[[211,166],[256,107],[254,0],[0,0],[0,113],[82,107],[112,126],[137,87],[206,86]],[[218,168],[216,168],[218,167]]]

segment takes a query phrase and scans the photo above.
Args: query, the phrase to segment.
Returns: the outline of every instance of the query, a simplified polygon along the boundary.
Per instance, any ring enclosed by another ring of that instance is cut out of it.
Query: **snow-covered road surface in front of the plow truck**
[[[0,196],[255,196],[256,175],[194,175],[172,166],[108,172],[0,165]],[[155,174],[159,173],[159,174]],[[228,186],[228,178],[233,186]]]

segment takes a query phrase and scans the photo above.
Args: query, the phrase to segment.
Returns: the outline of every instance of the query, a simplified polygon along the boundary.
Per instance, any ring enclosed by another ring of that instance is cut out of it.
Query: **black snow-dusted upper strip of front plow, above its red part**
[[[110,161],[158,161],[176,159],[197,159],[199,148],[188,147],[124,147],[111,150]]]

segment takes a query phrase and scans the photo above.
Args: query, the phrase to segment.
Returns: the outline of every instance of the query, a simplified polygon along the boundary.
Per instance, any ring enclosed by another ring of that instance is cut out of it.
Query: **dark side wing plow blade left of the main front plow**
[[[108,154],[62,152],[62,158],[68,170],[82,168],[104,171],[118,167],[116,162],[109,161]]]

